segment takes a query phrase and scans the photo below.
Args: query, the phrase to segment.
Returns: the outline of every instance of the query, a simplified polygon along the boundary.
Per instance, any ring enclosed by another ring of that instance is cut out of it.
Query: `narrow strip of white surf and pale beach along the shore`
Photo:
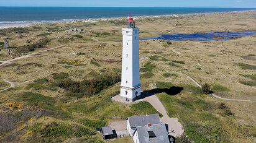
[[[0,12],[1,12],[0,7]],[[188,8],[189,9],[189,8]],[[195,8],[191,8],[195,9]],[[202,9],[208,9],[208,8],[202,8]],[[209,8],[211,9],[211,8]],[[215,8],[212,8],[213,10]],[[216,8],[217,9],[217,8]],[[227,9],[223,9],[227,10]],[[250,9],[250,10],[244,10],[242,9],[239,11],[220,11],[220,12],[194,12],[194,13],[186,13],[184,12],[183,14],[160,14],[160,15],[135,15],[135,19],[143,19],[146,17],[166,17],[166,16],[178,16],[178,15],[190,15],[190,14],[214,14],[214,13],[228,13],[228,12],[248,12],[248,11],[256,11],[256,9]],[[116,16],[116,17],[97,17],[97,18],[85,18],[85,19],[60,19],[60,20],[17,20],[17,21],[1,21],[2,20],[2,15],[0,15],[0,29],[2,28],[14,28],[14,27],[30,27],[31,25],[37,25],[37,24],[51,24],[51,23],[60,23],[60,22],[78,22],[78,21],[83,21],[83,22],[96,22],[98,20],[117,20],[117,19],[126,19],[127,17],[125,16]]]

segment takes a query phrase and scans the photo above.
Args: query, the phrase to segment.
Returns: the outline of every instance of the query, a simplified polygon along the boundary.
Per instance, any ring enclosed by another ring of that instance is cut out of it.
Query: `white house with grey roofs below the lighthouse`
[[[158,114],[127,118],[127,130],[135,143],[170,142],[165,123],[161,123]]]

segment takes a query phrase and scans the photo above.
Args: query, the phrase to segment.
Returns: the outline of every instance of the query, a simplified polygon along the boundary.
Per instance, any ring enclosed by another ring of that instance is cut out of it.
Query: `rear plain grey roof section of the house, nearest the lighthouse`
[[[130,128],[137,126],[145,126],[147,124],[160,124],[160,118],[158,114],[142,115],[142,116],[131,116],[128,117]]]

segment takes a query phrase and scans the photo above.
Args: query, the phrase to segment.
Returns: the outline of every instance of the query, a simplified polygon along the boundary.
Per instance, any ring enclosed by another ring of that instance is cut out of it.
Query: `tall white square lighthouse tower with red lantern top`
[[[140,98],[139,33],[130,14],[127,27],[122,28],[121,98],[132,102]]]

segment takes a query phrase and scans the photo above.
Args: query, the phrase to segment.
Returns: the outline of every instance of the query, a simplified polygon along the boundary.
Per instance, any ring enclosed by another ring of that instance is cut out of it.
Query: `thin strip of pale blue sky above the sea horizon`
[[[256,0],[0,0],[0,6],[256,8]]]

